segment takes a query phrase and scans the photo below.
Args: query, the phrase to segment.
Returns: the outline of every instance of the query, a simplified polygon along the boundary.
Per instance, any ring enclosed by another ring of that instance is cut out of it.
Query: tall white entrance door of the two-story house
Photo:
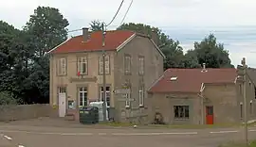
[[[59,88],[59,117],[65,116],[66,109],[66,93],[65,88]]]

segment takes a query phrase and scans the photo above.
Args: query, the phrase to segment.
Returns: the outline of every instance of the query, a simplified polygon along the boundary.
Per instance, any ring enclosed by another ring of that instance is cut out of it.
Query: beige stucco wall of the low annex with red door
[[[247,120],[256,119],[255,91],[247,81]],[[170,124],[207,124],[207,106],[213,106],[213,123],[238,123],[243,121],[244,107],[240,83],[205,84],[199,93],[152,93],[150,96],[152,112],[149,117],[154,121],[155,112],[162,114],[164,122]],[[250,86],[249,86],[250,85]],[[174,106],[189,106],[190,117],[174,118]]]

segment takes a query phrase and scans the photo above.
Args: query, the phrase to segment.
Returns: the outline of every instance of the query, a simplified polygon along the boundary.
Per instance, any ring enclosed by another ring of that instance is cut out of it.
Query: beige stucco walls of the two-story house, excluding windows
[[[120,48],[118,51],[106,51],[105,54],[110,56],[110,73],[106,74],[106,85],[110,86],[110,91],[123,89],[123,84],[132,84],[132,98],[135,101],[131,102],[130,107],[125,106],[125,101],[122,101],[122,95],[111,92],[111,107],[115,107],[115,120],[121,122],[135,121],[138,116],[148,115],[148,98],[145,92],[144,105],[138,105],[138,85],[142,83],[144,89],[147,90],[153,82],[163,73],[163,57],[157,51],[154,43],[147,37],[137,35],[132,41]],[[124,73],[124,57],[129,55],[131,59],[131,73]],[[77,75],[77,58],[86,56],[88,62],[88,73],[79,77]],[[102,86],[102,75],[99,74],[99,58],[102,52],[83,52],[83,53],[68,53],[68,54],[51,54],[50,55],[50,104],[57,106],[59,103],[58,88],[66,88],[66,113],[78,112],[76,109],[69,110],[67,102],[73,100],[78,104],[80,87],[87,88],[88,103],[90,101],[98,101],[100,97],[100,88]],[[139,56],[145,58],[144,75],[138,74]],[[60,57],[66,58],[66,74],[57,75],[57,60]]]

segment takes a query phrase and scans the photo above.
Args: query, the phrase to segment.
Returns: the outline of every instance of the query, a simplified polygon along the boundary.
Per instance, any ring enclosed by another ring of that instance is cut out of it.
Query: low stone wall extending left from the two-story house
[[[0,106],[0,122],[57,116],[57,110],[50,105]]]

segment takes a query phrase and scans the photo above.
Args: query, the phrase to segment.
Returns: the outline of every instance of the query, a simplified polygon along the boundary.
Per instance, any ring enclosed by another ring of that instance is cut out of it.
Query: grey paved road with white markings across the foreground
[[[0,134],[0,147],[217,147],[229,140],[243,139],[244,135],[242,128],[92,129],[22,125],[0,125]],[[256,139],[256,128],[250,128],[249,137]]]

